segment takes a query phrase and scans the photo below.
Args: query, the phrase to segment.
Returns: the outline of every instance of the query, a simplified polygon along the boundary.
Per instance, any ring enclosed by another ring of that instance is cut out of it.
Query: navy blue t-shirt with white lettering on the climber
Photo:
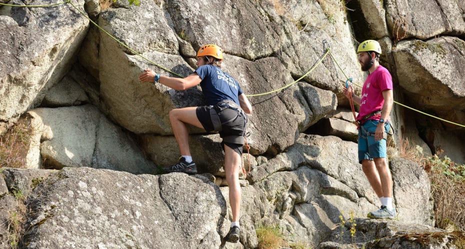
[[[242,89],[231,75],[214,65],[201,65],[194,72],[202,79],[200,87],[207,105],[214,105],[225,99],[239,104],[237,96],[242,94]]]

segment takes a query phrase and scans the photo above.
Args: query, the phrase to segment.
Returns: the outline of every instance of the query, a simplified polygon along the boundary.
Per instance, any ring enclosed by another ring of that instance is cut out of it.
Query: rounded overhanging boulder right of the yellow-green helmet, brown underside
[[[399,84],[418,106],[441,108],[443,112],[465,108],[465,41],[444,36],[428,41],[399,42],[392,51]],[[426,96],[428,98],[426,99]]]

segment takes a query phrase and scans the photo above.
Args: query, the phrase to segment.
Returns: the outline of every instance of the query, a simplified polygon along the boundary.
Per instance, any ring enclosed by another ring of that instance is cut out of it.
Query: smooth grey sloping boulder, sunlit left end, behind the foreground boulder
[[[28,114],[34,127],[29,167],[88,166],[131,173],[156,172],[135,141],[93,105],[37,108]]]

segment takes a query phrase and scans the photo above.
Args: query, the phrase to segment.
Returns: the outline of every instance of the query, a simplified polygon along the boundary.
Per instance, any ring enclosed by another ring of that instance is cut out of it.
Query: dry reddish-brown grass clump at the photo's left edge
[[[22,118],[0,137],[0,167],[26,167],[32,132],[30,119]]]

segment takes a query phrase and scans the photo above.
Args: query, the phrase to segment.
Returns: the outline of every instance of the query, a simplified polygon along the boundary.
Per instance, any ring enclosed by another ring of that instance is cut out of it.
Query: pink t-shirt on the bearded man
[[[392,90],[392,77],[385,67],[379,65],[366,77],[363,83],[357,120],[361,120],[365,115],[382,108],[384,104],[382,91],[387,89]],[[379,120],[379,118],[379,115],[377,115],[369,119]]]

